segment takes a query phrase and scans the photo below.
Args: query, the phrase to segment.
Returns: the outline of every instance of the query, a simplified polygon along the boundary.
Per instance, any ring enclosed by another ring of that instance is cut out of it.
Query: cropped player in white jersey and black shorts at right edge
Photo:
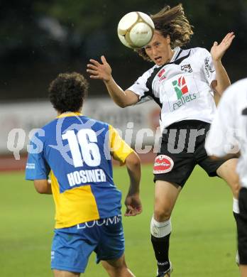
[[[216,139],[217,138],[217,139]],[[247,276],[247,78],[231,85],[219,102],[207,136],[207,153],[231,156],[240,148],[236,171],[239,175],[238,254],[241,276]]]

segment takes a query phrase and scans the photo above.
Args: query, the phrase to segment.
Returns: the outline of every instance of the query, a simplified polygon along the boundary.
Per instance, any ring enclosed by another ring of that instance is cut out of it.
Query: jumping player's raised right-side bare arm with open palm
[[[214,42],[214,45],[211,48],[212,60],[215,67],[216,72],[216,82],[212,84],[213,89],[218,92],[220,95],[224,92],[224,90],[231,85],[229,77],[227,75],[224,66],[221,63],[221,58],[223,57],[226,50],[231,46],[232,41],[234,40],[235,35],[234,32],[228,33],[221,43]]]

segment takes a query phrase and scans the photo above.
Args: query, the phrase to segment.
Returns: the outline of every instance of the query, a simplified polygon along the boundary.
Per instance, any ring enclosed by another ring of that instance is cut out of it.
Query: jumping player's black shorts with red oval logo
[[[153,167],[154,180],[164,180],[183,187],[195,165],[200,165],[209,176],[226,159],[213,161],[204,148],[210,124],[198,120],[179,121],[163,131],[160,152]]]

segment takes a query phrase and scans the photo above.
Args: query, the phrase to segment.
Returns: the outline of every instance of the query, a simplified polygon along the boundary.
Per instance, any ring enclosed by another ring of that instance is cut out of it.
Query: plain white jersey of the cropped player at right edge
[[[247,78],[224,92],[214,116],[205,148],[209,155],[226,156],[241,151],[237,172],[247,188]]]

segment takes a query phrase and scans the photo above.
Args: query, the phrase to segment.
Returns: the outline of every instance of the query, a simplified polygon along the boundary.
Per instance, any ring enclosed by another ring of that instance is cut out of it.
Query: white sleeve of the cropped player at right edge
[[[224,92],[207,135],[205,148],[210,156],[223,157],[231,152],[231,143],[236,139],[236,103],[234,88],[229,87]]]

